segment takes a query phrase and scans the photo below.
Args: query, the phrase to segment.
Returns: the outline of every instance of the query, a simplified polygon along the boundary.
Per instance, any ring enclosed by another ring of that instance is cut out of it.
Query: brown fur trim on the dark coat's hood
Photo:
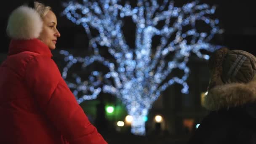
[[[237,107],[256,102],[256,81],[218,85],[208,91],[203,106],[208,110]]]

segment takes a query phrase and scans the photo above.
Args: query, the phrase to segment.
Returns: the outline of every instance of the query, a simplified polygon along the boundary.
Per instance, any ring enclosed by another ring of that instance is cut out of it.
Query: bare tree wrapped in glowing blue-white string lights
[[[214,14],[216,7],[198,4],[197,1],[175,7],[169,0],[164,0],[161,5],[157,0],[138,0],[134,8],[128,3],[120,5],[119,1],[99,0],[97,3],[83,0],[82,4],[74,1],[64,4],[63,14],[67,19],[84,27],[89,46],[93,48],[93,56],[75,57],[68,51],[60,51],[67,61],[62,76],[66,79],[69,68],[76,63],[87,67],[98,61],[109,68],[105,75],[92,72],[86,81],[81,81],[79,75],[74,75],[75,83],[67,81],[67,84],[69,88],[75,89],[73,93],[79,104],[84,100],[96,99],[101,91],[117,96],[125,104],[128,115],[133,117],[131,132],[144,135],[143,119],[162,91],[178,83],[183,86],[182,93],[189,92],[186,82],[189,75],[188,58],[191,53],[195,53],[199,58],[209,59],[209,56],[202,54],[200,50],[216,50],[216,46],[211,45],[209,41],[216,33],[220,33],[217,26],[219,20],[208,17]],[[130,48],[125,42],[121,30],[121,19],[127,16],[131,16],[136,24],[135,48]],[[176,19],[173,23],[172,18]],[[160,21],[165,21],[165,24],[158,28]],[[204,21],[209,25],[210,32],[199,32],[196,28],[197,21]],[[183,27],[187,26],[191,28],[182,31]],[[90,27],[96,29],[99,35],[92,36]],[[176,37],[170,42],[172,35]],[[155,53],[152,53],[154,36],[160,36],[161,39]],[[116,63],[101,56],[99,46],[106,46]],[[169,53],[175,55],[171,60],[166,60]],[[166,80],[173,69],[180,69],[184,75]],[[110,79],[114,83],[111,83]],[[78,92],[83,92],[84,96],[78,98]]]

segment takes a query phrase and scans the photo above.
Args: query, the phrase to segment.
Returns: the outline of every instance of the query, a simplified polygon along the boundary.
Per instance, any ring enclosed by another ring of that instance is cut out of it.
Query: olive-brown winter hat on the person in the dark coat
[[[249,83],[256,74],[256,57],[241,50],[220,48],[209,59],[209,89],[227,83]]]

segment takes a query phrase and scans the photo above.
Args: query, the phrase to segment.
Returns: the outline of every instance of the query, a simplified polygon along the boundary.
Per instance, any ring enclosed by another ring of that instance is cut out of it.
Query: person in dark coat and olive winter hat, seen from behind
[[[189,144],[256,144],[256,58],[221,48],[209,59],[204,107],[210,113]]]

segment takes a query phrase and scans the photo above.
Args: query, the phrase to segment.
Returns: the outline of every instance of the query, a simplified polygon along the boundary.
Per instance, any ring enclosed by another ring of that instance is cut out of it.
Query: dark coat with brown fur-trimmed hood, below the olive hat
[[[256,83],[217,86],[205,96],[211,112],[189,144],[256,144]]]

